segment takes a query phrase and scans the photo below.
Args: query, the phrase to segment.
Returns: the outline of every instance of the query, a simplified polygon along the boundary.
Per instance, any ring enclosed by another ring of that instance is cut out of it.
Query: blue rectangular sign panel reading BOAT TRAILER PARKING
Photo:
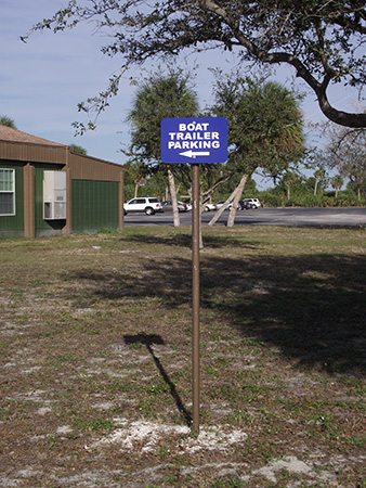
[[[227,120],[224,117],[164,118],[162,163],[225,163]]]

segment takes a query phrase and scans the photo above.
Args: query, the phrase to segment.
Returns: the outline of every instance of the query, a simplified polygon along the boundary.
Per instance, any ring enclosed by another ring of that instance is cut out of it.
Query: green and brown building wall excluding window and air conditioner
[[[0,239],[123,228],[120,165],[60,144],[0,140],[0,167],[15,169],[15,215],[0,216]],[[66,219],[43,219],[45,169],[66,171]]]

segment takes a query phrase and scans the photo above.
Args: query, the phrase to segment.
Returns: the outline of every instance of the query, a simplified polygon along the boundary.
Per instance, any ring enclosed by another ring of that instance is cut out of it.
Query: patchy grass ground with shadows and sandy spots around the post
[[[0,487],[366,488],[366,231],[0,241]]]

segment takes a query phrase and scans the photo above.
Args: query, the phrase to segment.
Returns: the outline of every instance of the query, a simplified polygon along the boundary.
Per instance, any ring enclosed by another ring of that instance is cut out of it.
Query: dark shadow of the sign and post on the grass
[[[159,358],[155,355],[153,346],[154,345],[165,345],[164,338],[158,334],[146,334],[146,333],[140,333],[135,335],[123,335],[125,344],[126,345],[132,345],[132,344],[143,344],[152,358],[154,359],[154,362],[162,377],[162,380],[166,382],[166,384],[169,387],[170,395],[172,396],[173,400],[175,401],[178,410],[182,413],[184,416],[184,420],[188,426],[192,424],[192,415],[188,412],[188,410],[184,407],[183,401],[177,391],[174,383],[170,380],[168,373],[166,372],[164,365],[161,364]]]

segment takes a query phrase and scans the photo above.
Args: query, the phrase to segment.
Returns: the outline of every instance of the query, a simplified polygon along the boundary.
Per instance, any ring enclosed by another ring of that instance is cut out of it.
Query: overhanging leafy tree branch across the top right
[[[54,33],[95,21],[109,34],[102,48],[121,56],[120,73],[109,87],[82,105],[100,113],[118,92],[122,73],[132,64],[185,49],[221,48],[240,62],[287,64],[316,94],[323,113],[348,127],[366,127],[366,113],[345,113],[328,100],[342,82],[362,91],[366,82],[366,9],[363,0],[71,0],[35,30]]]

